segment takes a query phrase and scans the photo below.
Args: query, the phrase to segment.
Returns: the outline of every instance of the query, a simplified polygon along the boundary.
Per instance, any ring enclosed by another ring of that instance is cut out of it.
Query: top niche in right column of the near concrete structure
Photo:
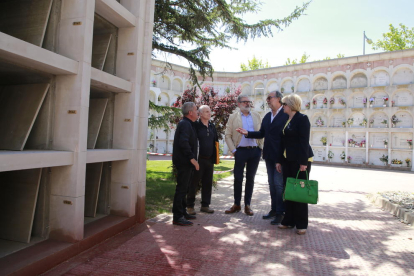
[[[92,67],[116,74],[118,28],[95,14],[93,23]]]

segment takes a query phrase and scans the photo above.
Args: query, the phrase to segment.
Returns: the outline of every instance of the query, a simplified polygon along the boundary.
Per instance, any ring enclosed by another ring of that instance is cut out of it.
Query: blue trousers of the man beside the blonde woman
[[[276,162],[266,159],[267,178],[271,199],[271,210],[277,215],[283,215],[285,204],[283,202],[284,181],[283,174],[276,170]]]

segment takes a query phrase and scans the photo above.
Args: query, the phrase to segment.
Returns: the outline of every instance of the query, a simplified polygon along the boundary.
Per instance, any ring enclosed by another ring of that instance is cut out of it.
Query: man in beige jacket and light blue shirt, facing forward
[[[237,98],[240,110],[229,117],[226,126],[226,143],[234,155],[234,204],[226,210],[226,214],[232,214],[241,210],[241,196],[243,188],[243,172],[246,166],[246,186],[244,191],[244,212],[253,216],[250,203],[253,194],[254,178],[262,155],[263,140],[246,138],[237,129],[243,128],[248,131],[260,129],[259,113],[251,111],[252,102],[248,96],[240,95]]]

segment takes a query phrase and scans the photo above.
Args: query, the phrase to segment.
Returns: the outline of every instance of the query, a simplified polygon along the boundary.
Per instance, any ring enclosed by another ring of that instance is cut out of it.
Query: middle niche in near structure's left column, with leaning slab
[[[0,86],[0,150],[25,148],[49,87],[48,83]],[[50,99],[47,102],[50,108]],[[50,112],[50,109],[42,110],[42,119],[29,142],[31,147],[47,148]]]

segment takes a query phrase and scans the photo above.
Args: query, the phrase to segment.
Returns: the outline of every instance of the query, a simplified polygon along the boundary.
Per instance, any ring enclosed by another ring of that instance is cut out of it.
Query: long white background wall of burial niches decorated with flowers
[[[412,162],[405,162],[414,159],[408,142],[413,140],[413,65],[414,50],[404,50],[240,73],[216,72],[213,80],[205,83],[222,93],[227,87],[241,86],[242,94],[252,97],[254,109],[262,116],[268,112],[265,99],[270,91],[300,95],[302,111],[312,124],[310,143],[316,162],[345,164],[340,158],[344,152],[351,157],[347,165],[414,170]],[[159,74],[162,70],[163,63],[153,60],[151,80],[156,80],[157,87],[151,87],[150,99],[157,104],[171,104],[190,85],[188,69],[174,65],[164,75]],[[168,81],[158,85],[161,76]],[[368,100],[365,105],[364,99]],[[395,124],[391,122],[393,116],[398,121]],[[173,133],[166,137],[160,134],[162,131],[152,132],[147,144],[156,145],[159,153],[171,152]],[[326,137],[325,146],[322,137]],[[348,143],[349,139],[355,143]],[[328,158],[329,152],[333,153],[332,159]],[[387,163],[380,160],[383,155],[388,156]],[[402,164],[392,164],[392,160]]]

